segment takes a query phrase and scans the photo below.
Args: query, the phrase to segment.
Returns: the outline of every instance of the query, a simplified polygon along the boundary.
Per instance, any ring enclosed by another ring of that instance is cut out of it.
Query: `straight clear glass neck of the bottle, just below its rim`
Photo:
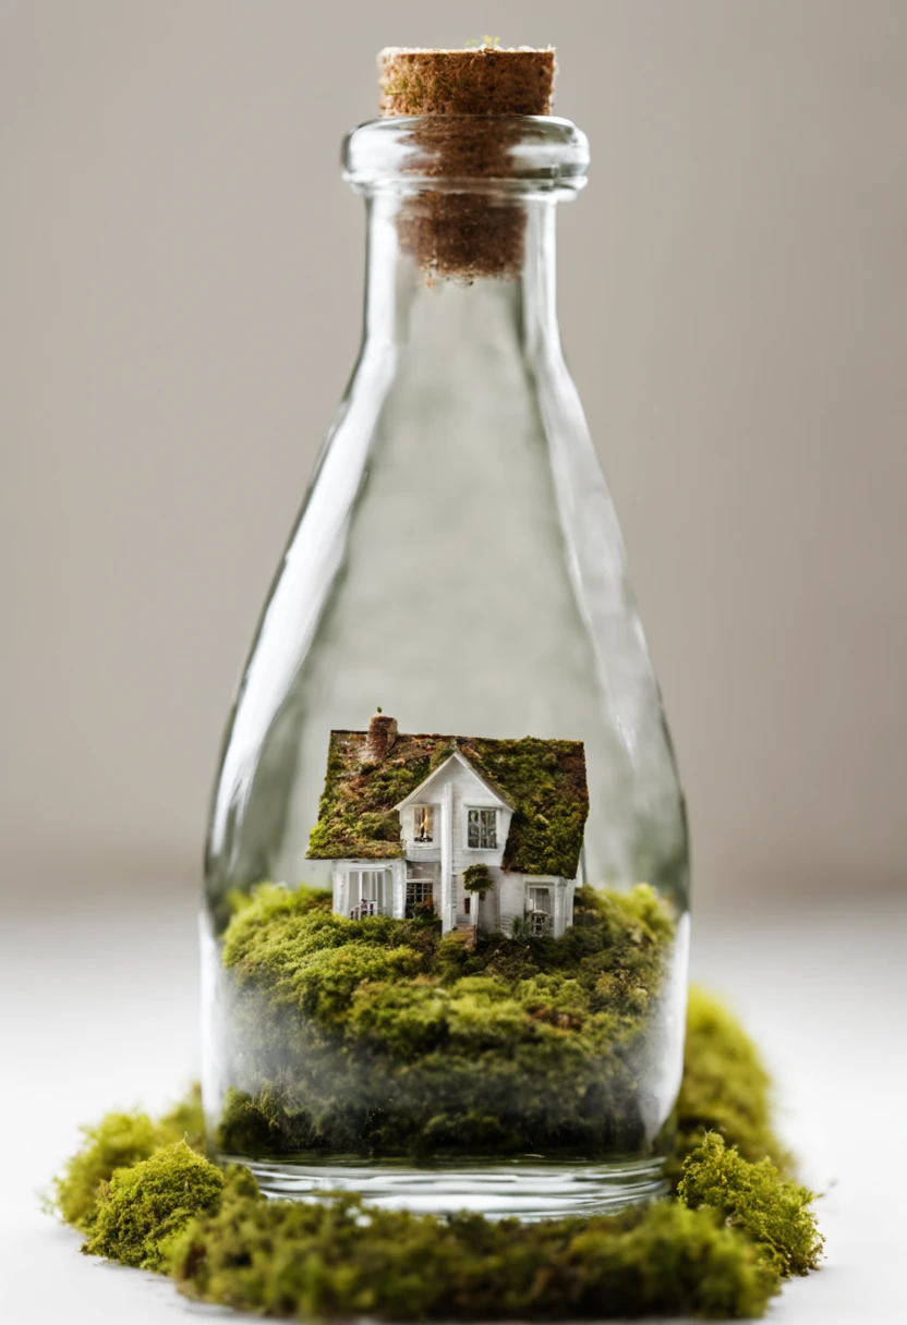
[[[505,274],[436,276],[402,240],[406,196],[378,192],[367,199],[367,265],[363,351],[404,351],[414,335],[431,335],[434,348],[480,341],[493,326],[520,343],[524,355],[560,348],[556,305],[556,220],[553,196],[513,197],[520,235],[518,261]],[[439,367],[443,360],[439,358]]]

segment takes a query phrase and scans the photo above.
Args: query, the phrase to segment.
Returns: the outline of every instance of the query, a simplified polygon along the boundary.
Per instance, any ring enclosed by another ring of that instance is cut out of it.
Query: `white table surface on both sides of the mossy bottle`
[[[34,889],[4,908],[0,1316],[9,1325],[155,1325],[221,1313],[166,1280],[78,1255],[41,1189],[107,1109],[174,1100],[198,1072],[195,897]],[[727,996],[778,1081],[781,1129],[819,1202],[827,1260],[788,1285],[776,1325],[904,1325],[907,900],[699,916],[694,977]]]

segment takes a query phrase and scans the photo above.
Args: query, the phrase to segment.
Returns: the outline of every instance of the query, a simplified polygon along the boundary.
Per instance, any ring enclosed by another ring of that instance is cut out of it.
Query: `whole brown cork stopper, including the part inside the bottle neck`
[[[554,48],[422,50],[386,46],[378,54],[381,114],[419,117],[414,168],[463,182],[423,191],[398,216],[400,246],[431,284],[514,277],[522,264],[525,212],[518,200],[477,193],[467,180],[507,179],[522,129],[517,115],[548,115],[554,98]]]

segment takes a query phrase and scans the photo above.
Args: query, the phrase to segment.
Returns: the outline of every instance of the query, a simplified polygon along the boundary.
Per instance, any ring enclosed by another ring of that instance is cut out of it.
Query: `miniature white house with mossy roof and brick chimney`
[[[367,731],[330,733],[308,856],[333,860],[341,916],[434,910],[446,933],[517,921],[560,937],[587,814],[581,741],[404,735],[378,713]]]

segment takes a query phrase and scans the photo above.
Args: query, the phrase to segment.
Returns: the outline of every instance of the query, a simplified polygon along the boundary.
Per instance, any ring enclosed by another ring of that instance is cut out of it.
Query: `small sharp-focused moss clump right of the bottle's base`
[[[741,1228],[781,1279],[818,1269],[825,1239],[809,1208],[814,1194],[785,1182],[770,1159],[748,1163],[709,1133],[686,1159],[678,1196],[691,1210],[709,1207]]]

